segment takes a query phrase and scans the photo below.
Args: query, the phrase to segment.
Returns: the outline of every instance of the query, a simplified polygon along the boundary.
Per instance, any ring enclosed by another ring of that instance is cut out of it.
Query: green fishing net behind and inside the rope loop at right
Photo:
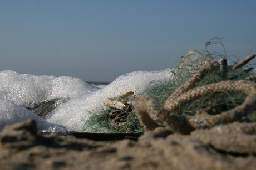
[[[250,55],[249,59],[252,58],[253,55]],[[203,60],[200,59],[200,66],[203,65],[201,64],[202,61]],[[173,79],[170,79],[153,89],[147,89],[144,92],[144,96],[148,96],[151,99],[159,102],[161,105],[164,105],[168,97],[171,96],[177,89],[180,90],[179,93],[181,94],[185,92],[185,90],[193,89],[194,87],[201,87],[207,84],[218,83],[220,81],[255,81],[255,72],[252,71],[251,68],[251,71],[241,68],[242,65],[240,63],[232,68],[231,66],[228,66],[227,60],[225,59],[222,59],[219,62],[214,60],[210,61],[215,64],[211,65],[211,68],[204,70],[205,73],[200,73],[198,65],[195,65],[194,63],[192,64],[194,67],[191,65],[182,65],[182,67],[173,71]],[[242,60],[241,63],[244,64],[248,61],[248,59],[245,59],[245,61]],[[204,62],[206,62],[206,60]],[[238,65],[240,65],[240,68],[237,68]],[[180,69],[186,71],[180,71]],[[199,74],[194,74],[196,71],[199,72]],[[193,76],[195,76],[195,78],[196,76],[199,77],[188,83],[188,80]],[[218,92],[211,92],[209,95],[200,96],[199,99],[193,100],[191,102],[183,102],[184,105],[179,107],[179,109],[173,110],[173,112],[175,115],[195,115],[196,113],[205,111],[211,115],[219,114],[221,111],[227,111],[242,104],[245,97],[246,95],[243,92],[236,91],[234,93],[233,91],[227,91],[223,89]],[[255,119],[254,115],[249,115],[249,117],[252,120]]]

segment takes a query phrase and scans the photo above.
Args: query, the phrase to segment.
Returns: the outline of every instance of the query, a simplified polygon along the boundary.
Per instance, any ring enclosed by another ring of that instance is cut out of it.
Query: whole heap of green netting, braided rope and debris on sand
[[[256,154],[255,72],[246,66],[253,58],[255,54],[232,66],[226,58],[217,61],[211,54],[192,50],[174,69],[171,80],[141,94],[130,91],[106,99],[101,114],[105,121],[100,123],[109,125],[107,132],[112,133],[162,137],[180,133],[220,152]],[[124,128],[134,123],[128,115],[140,122],[139,131]]]

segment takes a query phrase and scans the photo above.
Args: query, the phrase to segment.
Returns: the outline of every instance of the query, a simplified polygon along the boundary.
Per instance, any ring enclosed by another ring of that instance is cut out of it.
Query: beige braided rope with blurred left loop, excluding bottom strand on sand
[[[154,130],[156,127],[165,126],[173,132],[189,134],[198,128],[206,129],[215,125],[241,120],[244,116],[256,110],[256,84],[252,81],[228,80],[194,88],[195,83],[203,79],[210,71],[219,68],[220,65],[217,61],[207,61],[195,76],[191,77],[166,100],[164,107],[148,97],[136,99],[135,111],[141,125],[145,127],[145,130]],[[243,92],[247,97],[241,105],[218,115],[181,116],[173,114],[173,111],[190,101],[220,91]],[[156,123],[150,115],[156,116],[164,125]],[[252,126],[255,127],[255,123]]]

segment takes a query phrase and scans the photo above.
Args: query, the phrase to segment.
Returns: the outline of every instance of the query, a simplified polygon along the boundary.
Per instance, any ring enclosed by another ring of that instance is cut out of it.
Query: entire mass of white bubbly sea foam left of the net
[[[135,71],[121,75],[109,85],[99,88],[68,76],[36,76],[18,74],[11,70],[1,71],[0,128],[32,118],[37,121],[40,130],[60,125],[71,131],[80,131],[91,113],[104,108],[105,99],[121,96],[127,91],[140,94],[151,81],[164,81],[171,78],[171,75],[170,69]],[[47,120],[25,108],[58,98],[68,101],[58,106]]]

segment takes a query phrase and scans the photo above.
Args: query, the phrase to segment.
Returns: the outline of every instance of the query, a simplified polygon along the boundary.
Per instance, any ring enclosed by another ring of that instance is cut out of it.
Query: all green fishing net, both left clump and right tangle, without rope
[[[178,67],[172,69],[171,72],[173,75],[169,80],[165,80],[164,82],[159,80],[151,81],[151,83],[146,86],[145,91],[141,92],[141,94],[136,94],[136,97],[142,95],[149,96],[151,99],[164,105],[166,99],[168,99],[178,87],[188,81],[188,79],[193,76],[207,60],[219,61],[221,68],[208,73],[201,81],[199,81],[199,83],[195,84],[195,87],[224,80],[249,79],[255,81],[256,73],[252,68],[248,69],[247,65],[244,65],[239,69],[232,69],[232,65],[235,65],[237,60],[229,59],[229,61],[233,61],[233,63],[228,64],[225,48],[224,54],[216,52],[209,53],[208,47],[213,44],[220,44],[221,47],[224,48],[221,39],[211,39],[205,44],[206,47],[203,51],[199,52],[197,50],[192,50],[181,57]],[[200,112],[207,112],[207,114],[215,115],[242,104],[245,97],[245,94],[242,92],[215,92],[185,104],[180,109],[174,111],[174,114],[195,115],[200,114]],[[120,117],[117,117],[118,119],[110,116],[112,110],[113,108],[106,107],[105,110],[92,113],[92,116],[85,122],[82,130],[106,133],[138,133],[144,130],[140,125],[132,106],[124,111],[120,111],[121,116],[119,115]],[[247,118],[249,121],[255,121],[255,112],[250,113]]]

